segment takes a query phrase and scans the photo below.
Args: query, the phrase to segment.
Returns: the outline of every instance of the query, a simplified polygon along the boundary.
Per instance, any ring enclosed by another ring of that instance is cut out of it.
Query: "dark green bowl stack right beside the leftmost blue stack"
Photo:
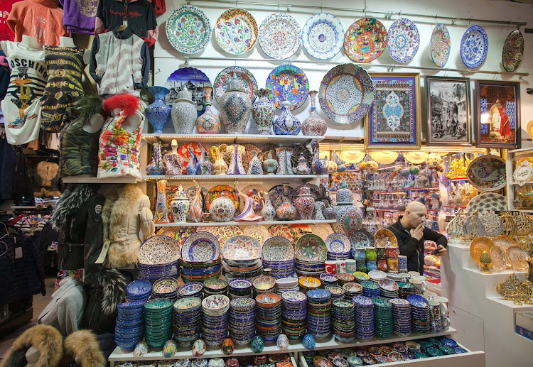
[[[144,337],[152,348],[162,348],[172,337],[172,302],[165,298],[144,304]]]

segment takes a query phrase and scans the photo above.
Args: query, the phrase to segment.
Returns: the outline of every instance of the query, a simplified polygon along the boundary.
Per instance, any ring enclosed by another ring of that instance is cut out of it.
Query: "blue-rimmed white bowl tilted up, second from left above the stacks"
[[[187,237],[181,248],[183,261],[205,263],[220,257],[220,244],[217,238],[204,231],[198,231]]]

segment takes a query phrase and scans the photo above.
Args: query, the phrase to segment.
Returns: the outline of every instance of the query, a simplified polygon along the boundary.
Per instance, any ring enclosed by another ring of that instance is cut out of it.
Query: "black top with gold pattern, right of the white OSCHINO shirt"
[[[48,82],[41,98],[41,128],[57,133],[65,111],[85,95],[82,87],[83,48],[45,46]]]

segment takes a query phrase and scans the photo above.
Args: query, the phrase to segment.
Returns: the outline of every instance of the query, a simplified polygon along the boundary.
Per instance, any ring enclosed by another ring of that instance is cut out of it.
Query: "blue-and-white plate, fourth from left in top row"
[[[302,30],[303,47],[312,57],[328,60],[340,52],[344,43],[344,28],[330,13],[318,13],[308,18]]]

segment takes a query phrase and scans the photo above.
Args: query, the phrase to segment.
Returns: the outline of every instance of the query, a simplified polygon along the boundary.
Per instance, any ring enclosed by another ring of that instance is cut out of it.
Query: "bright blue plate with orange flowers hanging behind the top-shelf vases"
[[[266,78],[266,88],[270,89],[272,102],[281,109],[281,102],[289,101],[289,109],[298,109],[306,102],[309,82],[306,73],[294,65],[279,65]]]

